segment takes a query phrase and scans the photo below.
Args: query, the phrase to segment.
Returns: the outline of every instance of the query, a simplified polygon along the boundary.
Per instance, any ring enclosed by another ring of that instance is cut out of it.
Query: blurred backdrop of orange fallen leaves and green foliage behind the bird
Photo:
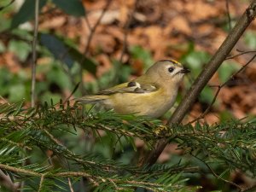
[[[11,2],[0,2],[0,102],[24,99],[30,106],[34,0]],[[191,70],[180,87],[178,104],[248,3],[247,0],[40,0],[36,102],[65,100],[79,82],[71,98],[93,94],[137,78],[154,61],[173,58]],[[224,61],[183,122],[196,119],[211,107],[216,86],[228,81],[231,74],[252,58],[256,51],[255,27],[254,21],[230,56],[249,53]],[[220,90],[209,113],[200,120],[213,124],[232,118],[253,118],[255,102],[256,66],[252,61]],[[177,104],[162,117],[163,122]],[[77,142],[69,144],[74,147]],[[79,142],[84,143],[82,133]],[[137,146],[140,145],[137,141]],[[84,146],[91,148],[88,143]],[[160,162],[174,162],[178,155],[174,148],[172,145],[166,148]],[[110,149],[95,145],[94,150],[109,156]],[[117,154],[116,158],[128,162],[129,155]],[[200,177],[200,184],[207,186],[203,191],[218,186],[208,183],[207,176],[195,177]],[[237,174],[230,177],[247,182]]]

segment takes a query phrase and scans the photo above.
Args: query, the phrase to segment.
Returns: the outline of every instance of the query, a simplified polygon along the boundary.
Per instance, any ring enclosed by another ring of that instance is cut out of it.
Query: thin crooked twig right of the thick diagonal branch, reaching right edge
[[[196,119],[190,121],[188,124],[192,124],[192,123],[194,123],[195,121],[197,121],[197,120],[199,120],[199,119],[203,119],[203,118],[207,115],[207,113],[209,112],[209,110],[212,108],[212,105],[214,104],[214,102],[216,102],[216,99],[217,99],[217,96],[218,96],[218,93],[220,92],[220,90],[221,90],[225,85],[227,85],[227,84],[230,82],[230,80],[235,79],[236,75],[237,75],[238,73],[241,73],[241,71],[243,71],[244,68],[247,67],[247,66],[255,59],[255,57],[256,57],[256,55],[253,55],[253,57],[252,57],[249,61],[247,61],[247,63],[246,63],[245,65],[243,65],[236,73],[232,74],[232,75],[230,76],[230,78],[229,78],[227,81],[225,81],[223,84],[215,85],[214,87],[218,87],[218,90],[216,91],[215,96],[214,96],[213,99],[212,99],[212,102],[209,104],[209,106],[207,107],[207,109],[206,109],[203,113],[201,113],[201,115],[200,115],[199,117],[197,117]]]

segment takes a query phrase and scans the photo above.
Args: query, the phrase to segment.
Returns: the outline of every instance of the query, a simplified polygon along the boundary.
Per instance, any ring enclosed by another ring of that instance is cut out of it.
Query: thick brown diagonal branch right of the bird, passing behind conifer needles
[[[182,119],[189,112],[189,109],[194,104],[196,98],[199,96],[201,90],[205,87],[207,82],[212,78],[212,75],[217,71],[218,67],[225,60],[227,55],[230,54],[231,49],[236,45],[236,42],[241,37],[242,33],[247,29],[247,26],[253,21],[256,15],[256,0],[253,0],[249,7],[246,9],[240,20],[237,21],[236,26],[230,31],[228,37],[221,44],[215,55],[212,56],[209,64],[202,70],[201,74],[195,79],[190,90],[184,96],[183,101],[176,108],[172,117],[168,121],[168,125],[179,124]],[[168,141],[161,139],[156,145],[155,149],[146,157],[143,164],[153,165],[158,159]]]

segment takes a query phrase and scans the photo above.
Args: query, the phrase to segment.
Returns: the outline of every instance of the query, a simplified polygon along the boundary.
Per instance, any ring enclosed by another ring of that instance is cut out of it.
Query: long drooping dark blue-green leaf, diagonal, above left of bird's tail
[[[55,56],[56,60],[64,62],[67,67],[73,67],[75,61],[93,75],[96,74],[96,63],[81,54],[77,49],[67,44],[63,39],[51,34],[41,33],[40,41]]]

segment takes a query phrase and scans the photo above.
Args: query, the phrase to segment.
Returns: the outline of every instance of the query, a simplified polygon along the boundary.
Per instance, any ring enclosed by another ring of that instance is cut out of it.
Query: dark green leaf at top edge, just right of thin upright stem
[[[52,0],[53,3],[68,15],[84,16],[84,5],[80,0]]]

